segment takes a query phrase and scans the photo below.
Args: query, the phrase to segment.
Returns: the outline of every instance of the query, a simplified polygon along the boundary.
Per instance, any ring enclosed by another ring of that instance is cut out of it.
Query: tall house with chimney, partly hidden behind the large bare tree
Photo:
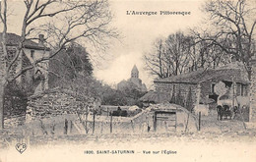
[[[1,34],[2,33],[0,33],[0,39],[2,38]],[[8,60],[12,60],[15,57],[21,39],[22,37],[15,33],[7,33],[6,45]],[[42,34],[38,36],[38,43],[32,40],[25,40],[23,45],[22,53],[13,66],[11,75],[31,66],[34,61],[42,57],[48,57],[50,54],[50,49],[44,45],[44,36]],[[0,52],[3,52],[2,49]],[[30,89],[31,93],[46,89],[48,87],[48,61],[38,63],[35,68],[25,72],[16,81],[24,88]]]

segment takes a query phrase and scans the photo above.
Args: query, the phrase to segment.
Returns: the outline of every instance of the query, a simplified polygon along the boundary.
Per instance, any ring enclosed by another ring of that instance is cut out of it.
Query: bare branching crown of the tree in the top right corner
[[[247,68],[255,53],[255,2],[211,0],[204,5],[204,11],[214,28],[195,32],[198,40],[220,47],[225,54],[235,56]]]

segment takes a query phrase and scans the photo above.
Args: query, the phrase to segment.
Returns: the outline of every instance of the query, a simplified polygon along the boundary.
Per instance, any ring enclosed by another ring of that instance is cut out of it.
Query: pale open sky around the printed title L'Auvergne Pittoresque
[[[19,33],[24,16],[24,2],[12,0],[12,17],[8,31]],[[100,56],[92,55],[97,80],[110,85],[130,78],[134,65],[140,72],[140,79],[149,89],[153,88],[154,77],[145,70],[143,56],[152,51],[153,44],[160,37],[167,37],[175,31],[185,31],[188,27],[200,26],[203,14],[200,7],[203,0],[111,0],[113,14],[112,27],[120,36],[111,42],[109,48]],[[158,12],[154,16],[127,15],[127,11]],[[160,15],[160,11],[190,12],[191,15]],[[96,60],[96,62],[94,61]]]

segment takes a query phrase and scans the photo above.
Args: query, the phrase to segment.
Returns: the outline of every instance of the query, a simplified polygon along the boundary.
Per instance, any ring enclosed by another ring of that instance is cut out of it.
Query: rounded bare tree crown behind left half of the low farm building
[[[146,69],[159,79],[184,73],[189,65],[190,41],[190,37],[182,32],[160,39],[153,51],[144,56]]]

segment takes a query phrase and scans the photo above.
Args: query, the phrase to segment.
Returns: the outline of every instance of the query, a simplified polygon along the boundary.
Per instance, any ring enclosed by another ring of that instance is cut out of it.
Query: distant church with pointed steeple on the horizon
[[[125,90],[126,88],[135,88],[139,91],[147,91],[145,83],[142,83],[142,80],[139,78],[139,71],[134,65],[131,71],[131,78],[128,81],[120,81],[117,84],[118,90]]]

